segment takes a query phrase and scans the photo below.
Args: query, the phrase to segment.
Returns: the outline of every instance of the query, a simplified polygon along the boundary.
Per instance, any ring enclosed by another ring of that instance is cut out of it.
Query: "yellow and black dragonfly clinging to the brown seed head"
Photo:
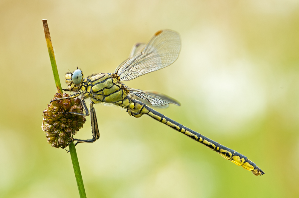
[[[152,117],[216,151],[225,159],[252,171],[256,176],[265,174],[245,155],[183,126],[147,105],[149,103],[151,106],[164,106],[173,103],[180,106],[177,100],[159,92],[129,88],[122,83],[122,81],[130,81],[141,75],[169,66],[177,60],[180,50],[181,38],[179,33],[173,30],[160,30],[153,35],[147,44],[135,44],[132,47],[129,58],[123,61],[115,69],[114,73],[98,73],[84,78],[82,70],[78,68],[74,72],[67,72],[65,82],[68,88],[63,90],[72,91],[74,94],[65,98],[56,98],[50,102],[67,98],[80,98],[85,114],[68,113],[82,116],[90,115],[92,138],[86,140],[74,138],[73,141],[76,141],[76,145],[78,143],[93,143],[99,139],[100,132],[93,105],[96,103],[110,103],[125,108],[131,116],[141,117],[142,115],[147,115]],[[89,110],[85,103],[86,98],[90,98]]]

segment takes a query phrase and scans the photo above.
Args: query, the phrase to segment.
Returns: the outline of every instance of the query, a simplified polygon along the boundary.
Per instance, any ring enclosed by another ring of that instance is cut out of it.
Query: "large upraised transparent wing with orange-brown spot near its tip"
[[[137,49],[132,58],[120,64],[115,74],[120,80],[129,81],[149,72],[172,64],[179,57],[181,38],[173,30],[160,30],[151,38],[141,52]],[[130,55],[131,55],[130,54]]]

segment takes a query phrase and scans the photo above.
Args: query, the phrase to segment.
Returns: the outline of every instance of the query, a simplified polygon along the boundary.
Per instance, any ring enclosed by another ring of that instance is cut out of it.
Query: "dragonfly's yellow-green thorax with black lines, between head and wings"
[[[94,75],[90,77],[90,83],[91,101],[94,103],[121,103],[126,96],[126,90],[110,73]]]

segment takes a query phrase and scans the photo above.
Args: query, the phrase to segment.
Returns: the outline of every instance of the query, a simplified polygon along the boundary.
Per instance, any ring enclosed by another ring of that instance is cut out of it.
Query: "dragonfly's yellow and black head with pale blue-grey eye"
[[[83,81],[83,72],[80,69],[76,69],[73,73],[67,72],[65,74],[65,82],[68,84],[68,90],[77,92],[81,88]]]

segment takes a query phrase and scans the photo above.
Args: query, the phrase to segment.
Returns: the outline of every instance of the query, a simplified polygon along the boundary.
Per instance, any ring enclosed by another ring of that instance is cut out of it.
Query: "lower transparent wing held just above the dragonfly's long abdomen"
[[[177,106],[181,104],[167,95],[161,94],[155,91],[142,91],[140,89],[126,88],[131,94],[138,96],[139,98],[148,101],[152,106],[162,106],[173,103]]]

